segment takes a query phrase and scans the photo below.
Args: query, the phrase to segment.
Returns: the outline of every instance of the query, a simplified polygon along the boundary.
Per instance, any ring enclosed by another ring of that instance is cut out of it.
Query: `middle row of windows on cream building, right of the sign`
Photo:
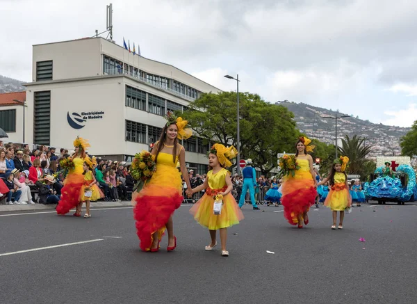
[[[164,116],[167,111],[183,111],[183,106],[177,102],[166,101],[165,99],[146,93],[145,91],[126,86],[126,106],[141,111]]]

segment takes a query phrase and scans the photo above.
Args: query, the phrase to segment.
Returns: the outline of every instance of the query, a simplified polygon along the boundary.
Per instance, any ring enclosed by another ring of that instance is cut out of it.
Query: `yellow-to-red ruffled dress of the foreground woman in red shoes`
[[[171,154],[170,159],[172,158]],[[163,157],[160,153],[159,157]],[[158,159],[159,159],[158,157]],[[136,234],[140,239],[140,249],[149,251],[154,240],[154,233],[161,241],[165,225],[181,206],[181,174],[175,166],[156,164],[156,172],[139,193],[133,197],[136,205],[133,216],[136,220]]]

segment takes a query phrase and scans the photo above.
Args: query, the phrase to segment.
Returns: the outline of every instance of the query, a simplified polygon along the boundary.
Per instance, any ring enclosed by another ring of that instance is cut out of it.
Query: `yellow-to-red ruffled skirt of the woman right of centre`
[[[297,170],[295,176],[289,175],[282,184],[281,204],[288,223],[297,225],[299,214],[309,211],[316,202],[317,191],[309,171]]]

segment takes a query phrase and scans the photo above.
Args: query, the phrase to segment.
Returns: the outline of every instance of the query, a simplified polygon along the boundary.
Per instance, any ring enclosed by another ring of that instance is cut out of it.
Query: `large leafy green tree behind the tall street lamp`
[[[236,98],[234,92],[202,94],[183,116],[200,137],[236,147]],[[298,133],[293,113],[252,93],[239,93],[239,110],[240,157],[251,158],[266,175],[277,167],[278,153],[293,150]]]

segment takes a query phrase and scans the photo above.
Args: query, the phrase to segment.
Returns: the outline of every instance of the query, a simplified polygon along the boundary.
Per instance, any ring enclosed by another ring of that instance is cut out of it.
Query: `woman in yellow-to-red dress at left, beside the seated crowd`
[[[56,207],[57,214],[67,214],[71,209],[76,208],[74,216],[81,216],[81,207],[79,208],[81,187],[84,184],[83,163],[87,158],[85,151],[90,144],[84,138],[78,137],[74,141],[75,153],[72,155],[74,169],[71,170],[64,179],[64,186],[61,189],[60,201]]]

